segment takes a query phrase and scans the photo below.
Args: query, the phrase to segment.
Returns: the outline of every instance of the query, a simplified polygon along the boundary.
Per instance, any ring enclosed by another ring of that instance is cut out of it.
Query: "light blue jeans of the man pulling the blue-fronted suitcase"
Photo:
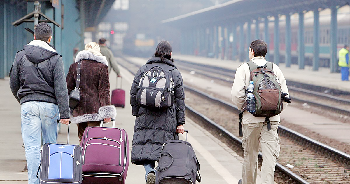
[[[41,134],[43,144],[56,143],[58,105],[48,102],[26,102],[21,106],[21,130],[28,165],[28,184],[38,184]]]

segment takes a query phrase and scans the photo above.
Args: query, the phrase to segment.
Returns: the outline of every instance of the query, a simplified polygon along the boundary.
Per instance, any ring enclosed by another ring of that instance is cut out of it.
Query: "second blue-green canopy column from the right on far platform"
[[[312,70],[318,70],[320,66],[320,43],[318,38],[320,33],[320,15],[318,8],[314,9],[314,58],[312,62]]]

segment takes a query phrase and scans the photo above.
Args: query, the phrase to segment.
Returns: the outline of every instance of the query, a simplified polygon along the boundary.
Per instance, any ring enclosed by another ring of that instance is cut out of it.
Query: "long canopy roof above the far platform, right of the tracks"
[[[331,5],[344,6],[349,3],[350,0],[232,0],[166,19],[162,23],[176,27],[188,27],[208,23],[219,24],[227,21],[245,22],[267,16],[329,8]]]

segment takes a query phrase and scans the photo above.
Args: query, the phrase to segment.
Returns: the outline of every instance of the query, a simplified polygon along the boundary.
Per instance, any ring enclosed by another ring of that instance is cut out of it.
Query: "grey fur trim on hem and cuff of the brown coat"
[[[98,114],[84,114],[81,116],[73,117],[72,113],[70,113],[70,122],[78,124],[82,122],[101,121],[104,118],[115,118],[116,116],[116,107],[114,107],[114,105],[108,105],[99,108]]]

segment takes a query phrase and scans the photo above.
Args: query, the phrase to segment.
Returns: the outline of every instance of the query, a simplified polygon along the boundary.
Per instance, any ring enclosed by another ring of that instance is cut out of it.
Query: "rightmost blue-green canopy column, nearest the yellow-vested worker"
[[[330,20],[330,72],[335,73],[338,68],[337,62],[337,8],[335,5],[331,6],[331,20]]]

